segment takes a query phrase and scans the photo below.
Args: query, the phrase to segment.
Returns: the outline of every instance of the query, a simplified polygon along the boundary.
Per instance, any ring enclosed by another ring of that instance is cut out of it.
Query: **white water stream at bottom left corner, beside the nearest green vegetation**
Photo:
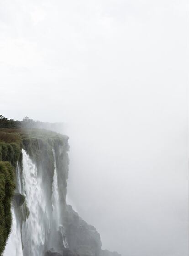
[[[8,238],[4,256],[23,256],[21,245],[21,231],[19,223],[16,222],[14,208],[12,207],[12,231]]]

